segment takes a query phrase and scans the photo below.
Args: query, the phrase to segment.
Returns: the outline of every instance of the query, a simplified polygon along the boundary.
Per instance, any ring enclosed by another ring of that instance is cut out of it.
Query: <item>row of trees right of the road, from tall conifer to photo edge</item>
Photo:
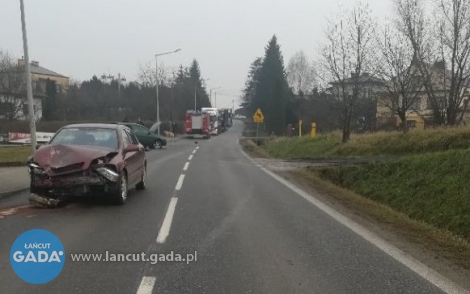
[[[340,9],[329,20],[317,60],[303,51],[284,68],[274,36],[252,62],[243,93],[248,115],[263,109],[269,131],[310,119],[320,129],[374,130],[378,107],[410,112],[435,125],[458,125],[469,101],[470,2],[391,0],[391,20],[379,25],[368,4]],[[425,102],[422,102],[425,101]],[[420,103],[426,103],[424,112]]]

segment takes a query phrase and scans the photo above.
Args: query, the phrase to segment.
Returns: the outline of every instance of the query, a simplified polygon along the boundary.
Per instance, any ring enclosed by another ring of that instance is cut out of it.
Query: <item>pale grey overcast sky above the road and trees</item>
[[[392,0],[369,4],[383,18]],[[31,60],[83,81],[121,73],[135,80],[139,66],[199,61],[208,88],[221,87],[217,106],[231,106],[250,63],[276,34],[285,66],[297,51],[314,58],[327,19],[355,0],[24,0]],[[23,56],[19,0],[1,0],[0,49]]]

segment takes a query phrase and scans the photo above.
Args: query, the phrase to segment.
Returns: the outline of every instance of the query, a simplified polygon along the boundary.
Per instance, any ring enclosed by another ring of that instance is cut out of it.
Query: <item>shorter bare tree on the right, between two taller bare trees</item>
[[[419,69],[414,64],[413,46],[402,32],[390,26],[385,28],[380,46],[379,73],[387,82],[379,103],[400,118],[403,132],[406,133],[409,111],[419,113],[423,86]]]

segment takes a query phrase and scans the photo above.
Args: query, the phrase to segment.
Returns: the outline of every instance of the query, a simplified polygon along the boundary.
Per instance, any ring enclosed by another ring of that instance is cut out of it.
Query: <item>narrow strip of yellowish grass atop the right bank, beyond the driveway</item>
[[[341,143],[341,134],[319,135],[316,138],[276,138],[263,148],[275,158],[338,158],[364,156],[403,156],[424,152],[461,150],[470,147],[470,128],[379,132],[352,135]]]

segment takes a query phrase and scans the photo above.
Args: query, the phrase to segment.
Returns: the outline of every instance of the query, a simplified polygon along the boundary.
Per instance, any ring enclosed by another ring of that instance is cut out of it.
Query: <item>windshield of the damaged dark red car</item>
[[[107,128],[64,128],[51,141],[52,145],[88,145],[118,148],[117,133]]]

